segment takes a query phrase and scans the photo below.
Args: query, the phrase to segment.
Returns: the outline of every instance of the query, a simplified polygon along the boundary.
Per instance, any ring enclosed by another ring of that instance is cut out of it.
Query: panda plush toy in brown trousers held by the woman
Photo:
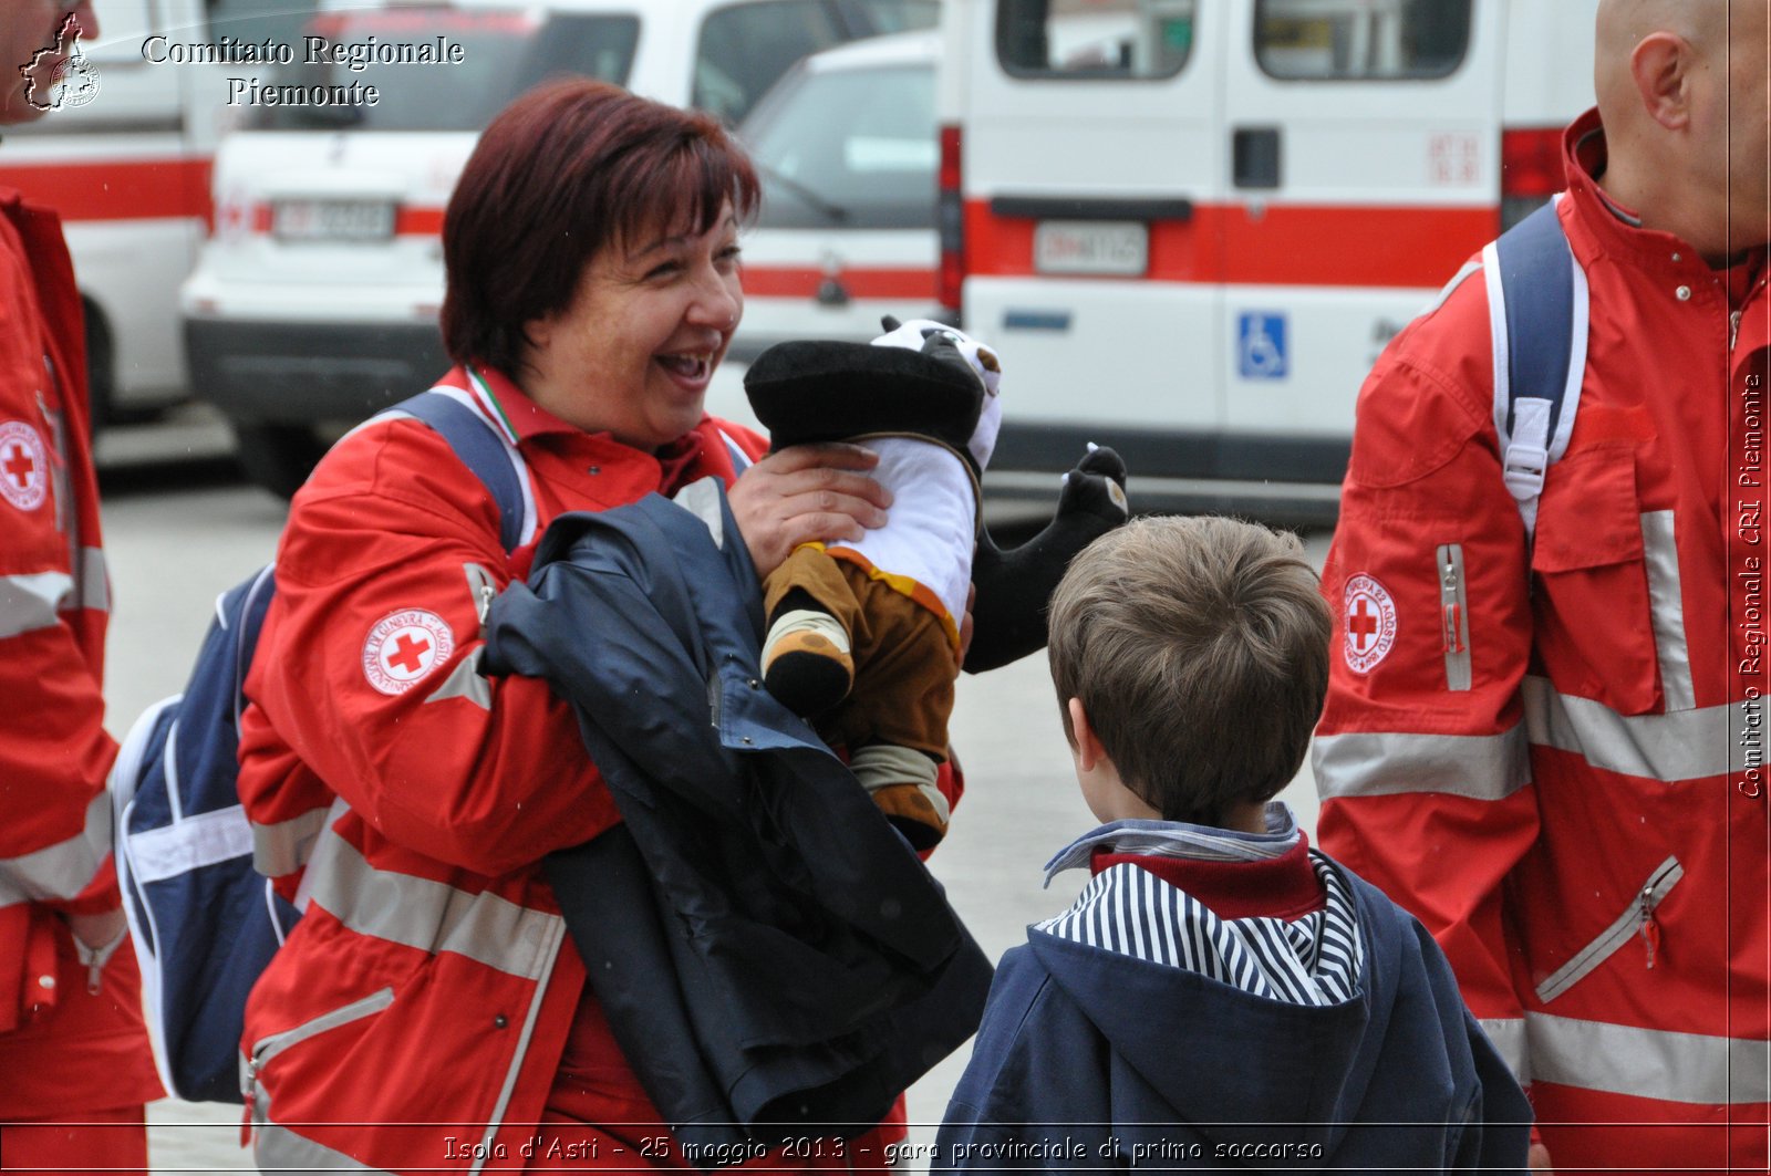
[[[935,786],[969,590],[971,671],[1045,645],[1045,606],[1070,558],[1125,522],[1125,462],[1091,446],[1057,512],[1001,551],[983,528],[979,476],[1002,420],[995,352],[965,333],[886,319],[871,344],[788,342],[744,375],[776,450],[850,441],[878,453],[886,526],[804,544],[763,584],[769,691],[806,716],[917,850],[947,829]]]

